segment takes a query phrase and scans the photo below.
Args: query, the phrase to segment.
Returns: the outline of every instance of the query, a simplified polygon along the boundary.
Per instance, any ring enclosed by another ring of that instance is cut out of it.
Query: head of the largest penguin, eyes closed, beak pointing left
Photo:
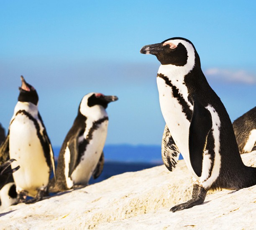
[[[145,45],[140,52],[155,55],[162,65],[184,66],[193,61],[200,66],[200,58],[195,46],[182,37],[173,37],[161,43]]]

